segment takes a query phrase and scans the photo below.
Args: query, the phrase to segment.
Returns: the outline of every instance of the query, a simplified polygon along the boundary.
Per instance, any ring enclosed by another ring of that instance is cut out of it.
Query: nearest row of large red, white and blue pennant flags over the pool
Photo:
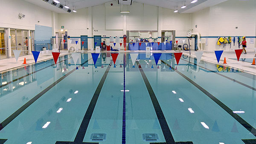
[[[254,49],[255,49],[255,52],[256,52],[256,48],[254,48]],[[22,50],[12,50],[12,51],[15,55],[15,59],[16,59],[16,62],[17,62],[18,58],[20,56],[20,52]],[[217,60],[218,63],[221,59],[221,55],[223,54],[223,52],[224,52],[223,50],[216,50],[215,51],[215,56],[216,56],[216,60]],[[203,53],[204,53],[203,51],[195,52],[195,56],[197,58],[198,63],[201,61]],[[235,49],[235,54],[236,54],[237,61],[239,61],[241,53],[242,53],[242,49]],[[96,66],[96,61],[99,58],[99,54],[100,53],[91,53],[92,58],[93,58],[94,66]],[[175,56],[175,60],[176,60],[177,65],[180,62],[180,58],[181,58],[182,54],[183,54],[183,52],[174,52],[174,56]],[[40,55],[40,51],[32,51],[32,55],[34,57],[35,63],[37,63],[38,57]],[[59,55],[60,55],[60,52],[52,52],[52,57],[53,57],[53,60],[54,60],[55,64],[57,63]],[[71,55],[72,55],[72,58],[74,60],[75,65],[76,65],[77,60],[79,59],[79,56],[81,55],[81,53],[71,53]],[[118,55],[119,55],[119,53],[111,53],[111,57],[113,59],[114,67],[116,67],[115,64],[116,64],[116,59],[117,59]],[[130,53],[133,66],[135,64],[135,61],[137,60],[138,55],[139,55],[139,53]],[[162,55],[162,53],[153,53],[156,66],[157,66],[157,63],[158,63],[161,55]],[[226,58],[224,58],[224,64],[226,64],[226,63],[227,63]],[[27,64],[26,63],[26,58],[24,58],[24,62],[22,64]],[[252,65],[256,65],[255,58],[253,58]],[[139,66],[139,68],[140,67],[141,66]],[[154,68],[154,66],[152,65],[151,68]],[[159,66],[157,66],[157,68],[159,69]]]

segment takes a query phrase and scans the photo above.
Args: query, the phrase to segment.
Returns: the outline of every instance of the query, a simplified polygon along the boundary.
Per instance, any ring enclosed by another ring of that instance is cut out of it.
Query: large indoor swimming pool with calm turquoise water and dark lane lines
[[[1,74],[0,144],[256,141],[255,75],[173,53],[78,55]]]

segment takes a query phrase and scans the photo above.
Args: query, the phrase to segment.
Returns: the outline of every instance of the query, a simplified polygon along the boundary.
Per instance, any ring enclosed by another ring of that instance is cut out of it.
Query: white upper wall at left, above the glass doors
[[[0,27],[35,30],[35,24],[52,26],[51,11],[47,9],[24,0],[0,0],[0,5]],[[19,13],[25,18],[18,19]]]

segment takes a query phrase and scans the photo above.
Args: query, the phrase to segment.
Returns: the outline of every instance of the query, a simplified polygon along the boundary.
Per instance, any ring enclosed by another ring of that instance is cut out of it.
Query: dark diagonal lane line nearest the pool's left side
[[[90,58],[89,60],[91,60]],[[85,63],[87,63],[89,60],[86,60],[84,63],[79,65],[78,67],[81,67]],[[41,91],[39,94],[37,94],[34,98],[29,100],[26,104],[24,104],[22,107],[20,107],[18,110],[16,110],[12,115],[10,115],[6,120],[4,120],[2,123],[0,123],[0,131],[3,130],[4,127],[6,127],[7,124],[9,124],[12,120],[14,120],[18,115],[20,115],[21,112],[23,112],[26,108],[28,108],[31,104],[33,104],[38,98],[40,98],[42,95],[44,95],[46,92],[48,92],[53,86],[61,82],[64,78],[66,78],[68,75],[70,75],[72,72],[75,72],[76,68],[68,72],[66,75],[63,77],[59,78],[57,81],[52,83],[50,86],[48,86],[46,89]]]

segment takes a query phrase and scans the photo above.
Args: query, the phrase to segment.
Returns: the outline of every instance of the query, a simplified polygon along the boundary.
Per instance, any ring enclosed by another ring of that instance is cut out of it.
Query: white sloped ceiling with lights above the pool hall
[[[41,6],[45,9],[49,9],[51,11],[55,11],[57,13],[67,13],[67,9],[59,9],[58,6],[60,4],[57,4],[57,6],[52,6],[52,0],[49,0],[49,2],[45,2],[43,0],[25,0],[29,3],[35,4],[37,6]],[[97,6],[100,4],[104,4],[106,2],[110,2],[113,0],[59,0],[62,5],[67,4],[67,6],[70,7],[70,9],[82,9],[87,8],[90,6]],[[186,8],[180,9],[181,6],[184,5],[185,0],[116,0],[116,3],[120,4],[127,4],[130,5],[133,2],[138,3],[145,3],[152,6],[160,6],[167,9],[177,9],[179,10],[179,13],[193,13],[197,12],[201,9],[207,8],[209,6],[214,6],[218,3],[222,3],[227,0],[198,0],[196,3],[190,3],[192,0],[186,0]],[[113,1],[115,3],[115,1]]]

